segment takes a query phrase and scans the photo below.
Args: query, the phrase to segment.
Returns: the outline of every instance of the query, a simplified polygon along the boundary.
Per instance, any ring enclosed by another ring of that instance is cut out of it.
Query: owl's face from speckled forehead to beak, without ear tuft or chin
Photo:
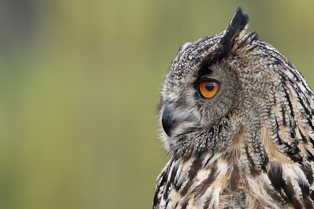
[[[220,38],[185,44],[172,63],[162,91],[162,124],[168,137],[210,127],[236,106],[239,85],[230,60],[201,65]]]

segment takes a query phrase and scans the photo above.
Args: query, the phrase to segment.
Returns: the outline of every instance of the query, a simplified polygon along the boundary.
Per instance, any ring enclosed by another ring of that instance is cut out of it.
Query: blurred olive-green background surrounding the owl
[[[151,208],[178,48],[248,31],[313,78],[313,1],[0,1],[0,208]]]

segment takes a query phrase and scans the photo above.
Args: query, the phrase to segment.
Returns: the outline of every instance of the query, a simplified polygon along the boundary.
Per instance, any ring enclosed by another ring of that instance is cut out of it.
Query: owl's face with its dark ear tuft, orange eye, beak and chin
[[[248,53],[241,56],[237,50],[257,40],[254,33],[243,36],[247,20],[247,15],[236,14],[221,34],[186,43],[179,49],[161,92],[160,120],[168,151],[189,155],[217,149],[222,141],[216,136],[223,126],[226,128],[228,118],[240,120],[236,109],[241,109],[246,92],[239,68]],[[229,129],[234,132],[239,127]]]

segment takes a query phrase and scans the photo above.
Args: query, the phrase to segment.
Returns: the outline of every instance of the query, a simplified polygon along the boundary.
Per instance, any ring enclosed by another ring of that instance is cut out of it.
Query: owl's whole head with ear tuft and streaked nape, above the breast
[[[313,153],[313,92],[278,50],[245,33],[248,20],[239,6],[225,31],[180,47],[161,91],[169,153],[247,155],[256,170]]]

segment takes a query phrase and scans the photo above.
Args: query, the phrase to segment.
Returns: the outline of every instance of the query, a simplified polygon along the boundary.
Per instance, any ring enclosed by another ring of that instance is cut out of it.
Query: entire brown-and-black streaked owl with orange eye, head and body
[[[248,20],[239,6],[171,64],[159,120],[172,157],[154,209],[314,208],[314,94]]]

